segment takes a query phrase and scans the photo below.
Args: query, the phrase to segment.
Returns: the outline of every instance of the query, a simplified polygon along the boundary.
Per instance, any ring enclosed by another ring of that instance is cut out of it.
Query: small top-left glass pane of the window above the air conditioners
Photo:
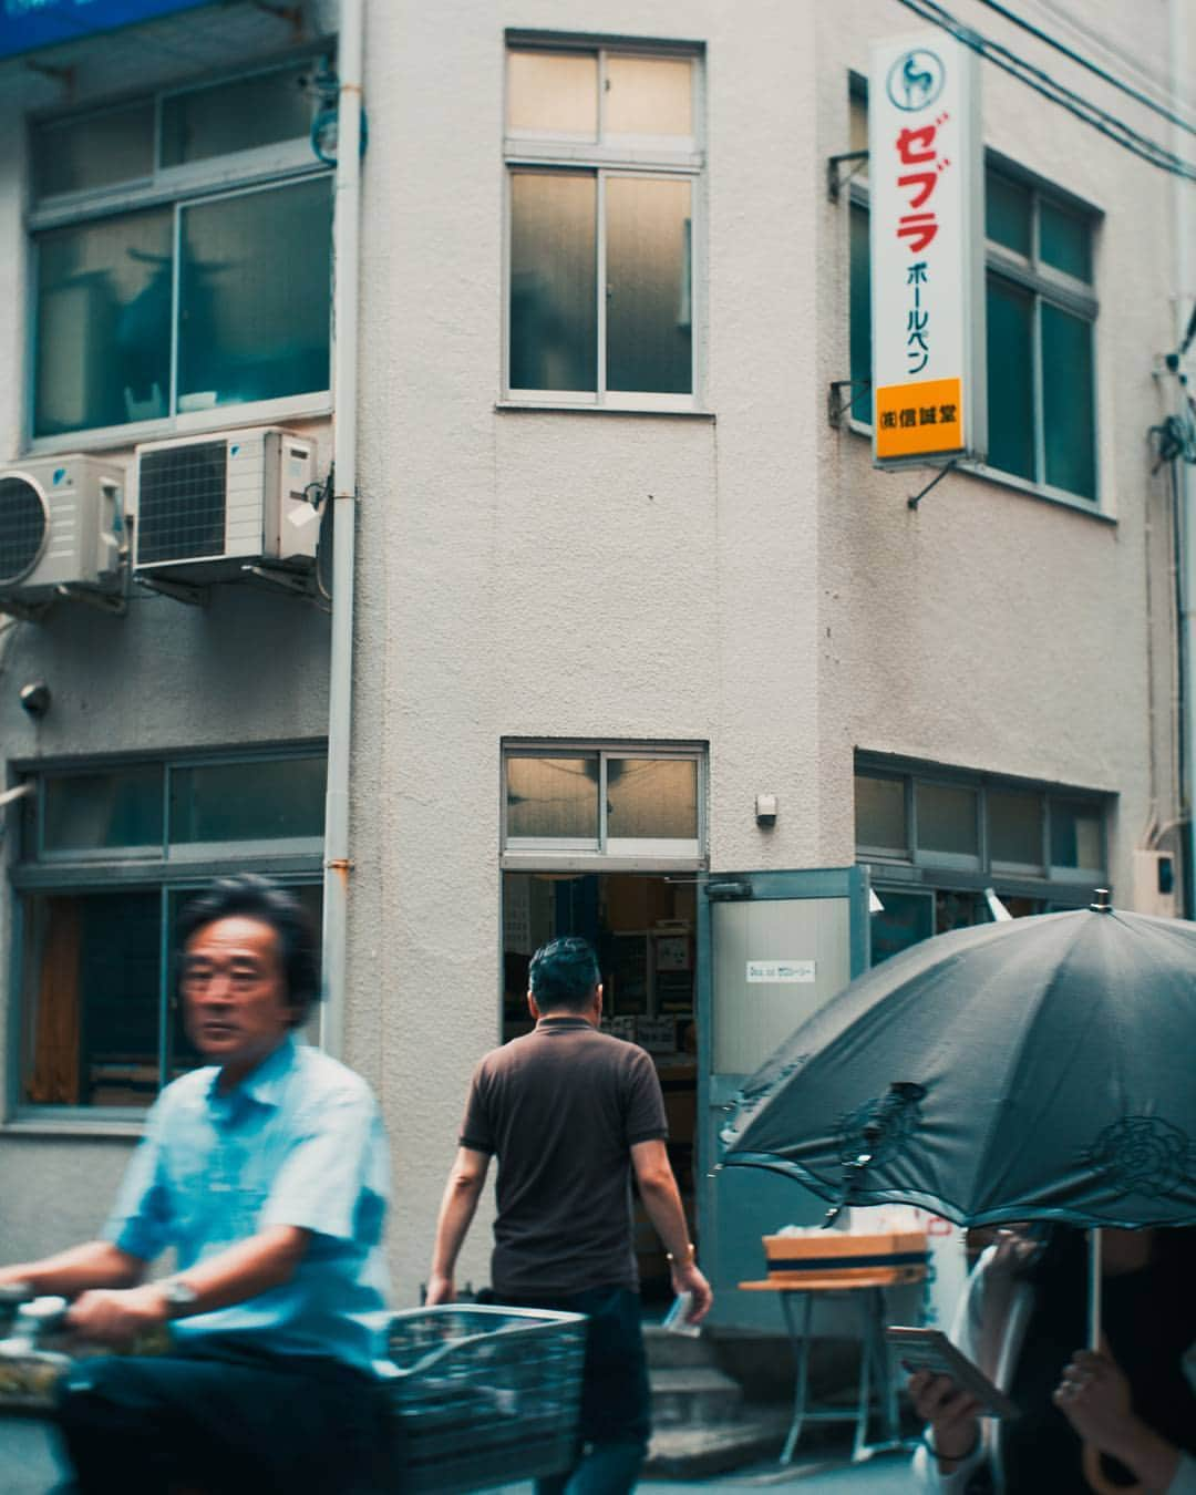
[[[33,132],[33,191],[52,197],[138,181],[154,170],[151,100],[81,120],[55,120]]]

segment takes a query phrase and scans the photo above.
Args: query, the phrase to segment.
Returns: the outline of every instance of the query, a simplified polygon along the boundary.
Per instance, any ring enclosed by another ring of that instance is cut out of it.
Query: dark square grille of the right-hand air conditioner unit
[[[138,564],[224,553],[227,444],[144,451],[138,477]]]

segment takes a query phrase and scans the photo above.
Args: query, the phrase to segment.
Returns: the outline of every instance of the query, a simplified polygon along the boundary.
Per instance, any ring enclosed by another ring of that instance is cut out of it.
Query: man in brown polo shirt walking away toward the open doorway
[[[555,939],[531,963],[534,1032],[474,1072],[460,1147],[444,1190],[431,1304],[453,1302],[453,1272],[498,1159],[495,1298],[519,1308],[589,1316],[583,1447],[541,1495],[622,1495],[647,1452],[647,1359],[631,1227],[631,1174],[664,1242],[689,1319],[710,1310],[668,1163],[664,1097],[649,1055],[598,1032],[602,988],[592,946]]]

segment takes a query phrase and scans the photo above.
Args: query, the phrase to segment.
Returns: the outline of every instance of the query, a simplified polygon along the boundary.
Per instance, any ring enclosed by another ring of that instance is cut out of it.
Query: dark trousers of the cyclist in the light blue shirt
[[[393,1491],[381,1399],[332,1360],[112,1356],[78,1362],[58,1429],[79,1495],[377,1495]]]

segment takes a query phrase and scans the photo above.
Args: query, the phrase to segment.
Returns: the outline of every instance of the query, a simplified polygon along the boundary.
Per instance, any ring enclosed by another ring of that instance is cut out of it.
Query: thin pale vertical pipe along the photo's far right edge
[[[1187,3],[1189,0],[1171,0],[1171,81],[1172,94],[1177,100],[1183,97],[1181,82],[1187,76],[1187,55],[1193,43],[1189,21],[1184,15]],[[1178,126],[1172,126],[1172,138],[1178,150],[1183,145]],[[1192,302],[1196,299],[1196,257],[1192,226],[1193,187],[1183,178],[1175,176],[1172,193],[1175,200],[1175,345],[1180,347],[1189,315],[1193,311]],[[1187,362],[1192,360],[1189,359]],[[1183,357],[1177,374],[1183,380]],[[1190,393],[1190,386],[1181,383],[1180,414],[1189,420],[1193,419],[1192,411],[1184,411],[1183,404],[1186,404]],[[1181,764],[1184,795],[1180,815],[1187,822],[1187,845],[1184,846],[1186,855],[1183,857],[1183,912],[1187,918],[1193,918],[1196,916],[1196,887],[1193,887],[1196,884],[1196,813],[1193,813],[1193,797],[1196,797],[1196,613],[1193,613],[1193,602],[1196,602],[1196,483],[1192,480],[1192,466],[1184,460],[1183,454],[1175,459],[1172,472],[1175,475],[1172,498],[1180,510],[1180,555],[1175,559],[1181,595],[1178,617],[1180,658],[1184,662],[1183,679],[1180,680],[1180,712],[1184,742],[1184,761]]]

